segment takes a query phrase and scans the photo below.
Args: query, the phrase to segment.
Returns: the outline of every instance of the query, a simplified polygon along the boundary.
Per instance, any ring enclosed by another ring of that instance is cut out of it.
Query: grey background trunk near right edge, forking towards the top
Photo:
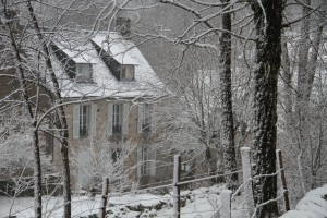
[[[306,5],[311,5],[311,0],[305,0],[304,3]],[[322,41],[322,33],[324,28],[324,22],[326,20],[326,3],[324,0],[320,2],[320,12],[317,12],[319,15],[319,19],[317,22],[314,23],[312,21],[311,16],[308,15],[311,13],[311,9],[308,7],[303,5],[302,9],[302,16],[304,16],[302,21],[301,26],[301,39],[300,39],[300,49],[299,49],[299,74],[298,74],[298,92],[296,92],[296,98],[295,98],[295,116],[298,117],[298,125],[296,125],[296,132],[298,132],[298,145],[299,145],[299,171],[300,174],[303,174],[302,178],[302,191],[303,193],[306,192],[307,189],[311,189],[314,186],[315,182],[313,180],[314,178],[314,170],[304,170],[304,168],[301,166],[301,164],[304,164],[305,166],[308,166],[307,169],[314,168],[314,161],[313,159],[310,159],[311,161],[307,161],[307,157],[312,156],[312,153],[314,153],[314,148],[316,145],[312,144],[313,138],[311,138],[311,123],[315,122],[312,119],[311,114],[311,94],[313,88],[313,82],[315,77],[316,72],[316,64],[317,64],[317,58]],[[317,26],[317,29],[314,34],[313,40],[310,38],[311,35],[311,26],[313,25]],[[310,49],[312,51],[310,52]]]

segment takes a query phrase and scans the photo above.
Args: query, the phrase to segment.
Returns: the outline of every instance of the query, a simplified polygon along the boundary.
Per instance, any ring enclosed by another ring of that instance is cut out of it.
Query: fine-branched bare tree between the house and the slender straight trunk
[[[179,72],[169,80],[173,87],[171,89],[177,95],[167,100],[161,109],[158,123],[165,134],[160,135],[159,144],[164,144],[165,147],[169,145],[185,154],[185,157],[190,152],[197,154],[197,165],[204,167],[198,167],[195,171],[215,173],[222,170],[217,169],[217,157],[219,162],[222,160],[219,143],[218,119],[221,110],[217,99],[217,63],[205,50],[196,48],[189,49],[183,59]],[[201,162],[202,159],[205,161]],[[222,162],[218,168],[221,168],[221,165]]]

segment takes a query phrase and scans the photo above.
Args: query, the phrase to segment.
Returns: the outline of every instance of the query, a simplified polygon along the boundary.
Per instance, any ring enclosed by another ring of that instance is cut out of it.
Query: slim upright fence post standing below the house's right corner
[[[173,217],[181,217],[181,204],[180,204],[180,185],[178,184],[181,179],[181,156],[175,155],[173,161]]]

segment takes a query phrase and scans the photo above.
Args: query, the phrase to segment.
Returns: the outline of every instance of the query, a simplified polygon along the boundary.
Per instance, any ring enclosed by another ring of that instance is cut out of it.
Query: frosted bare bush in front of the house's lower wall
[[[100,191],[102,178],[108,177],[111,191],[130,187],[131,170],[126,169],[126,160],[134,149],[135,145],[129,142],[118,146],[106,137],[81,143],[73,149],[72,158],[77,184],[83,190]]]

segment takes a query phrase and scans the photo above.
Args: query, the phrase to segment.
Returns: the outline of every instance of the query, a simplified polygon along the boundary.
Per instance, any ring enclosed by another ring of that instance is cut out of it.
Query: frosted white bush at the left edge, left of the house
[[[0,192],[17,195],[31,189],[33,182],[33,138],[27,117],[19,107],[0,114]],[[40,137],[45,148],[45,137]],[[51,157],[41,154],[43,171],[51,170]]]

